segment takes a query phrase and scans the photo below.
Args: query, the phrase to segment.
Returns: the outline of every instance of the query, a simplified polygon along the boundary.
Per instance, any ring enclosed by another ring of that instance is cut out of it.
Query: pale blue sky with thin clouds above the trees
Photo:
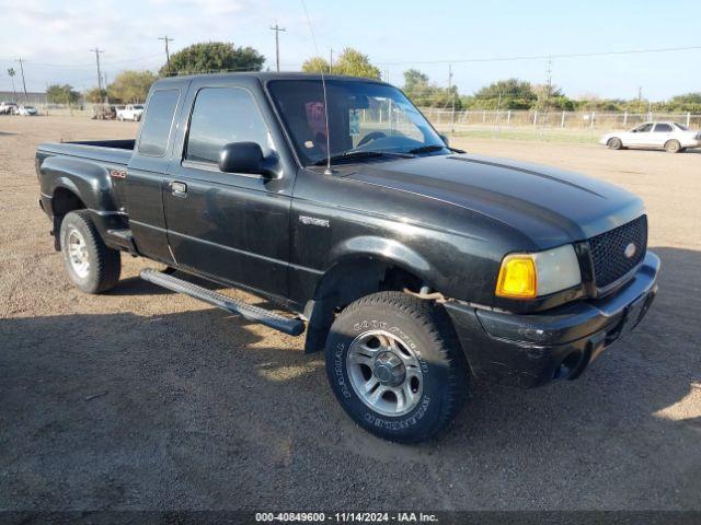
[[[701,91],[701,4],[694,1],[632,0],[303,0],[320,54],[354,47],[370,57],[384,80],[402,85],[406,69],[418,69],[438,85],[452,82],[472,94],[498,79],[552,81],[570,96],[660,101]],[[96,85],[95,55],[104,49],[107,79],[125,69],[160,68],[159,36],[174,38],[171,52],[206,40],[233,42],[262,52],[275,68],[280,34],[283,70],[299,70],[317,54],[302,0],[0,0],[0,91],[21,86],[22,57],[28,91],[69,83]],[[640,49],[697,49],[565,58],[558,55]],[[499,60],[494,60],[499,59]],[[479,60],[479,61],[469,61]]]

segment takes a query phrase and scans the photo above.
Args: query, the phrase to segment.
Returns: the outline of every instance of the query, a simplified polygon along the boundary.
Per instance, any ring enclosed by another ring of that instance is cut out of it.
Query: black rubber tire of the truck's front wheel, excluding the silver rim
[[[346,358],[357,337],[372,330],[399,336],[421,363],[423,392],[409,413],[382,415],[357,395]],[[444,429],[464,404],[468,362],[443,306],[402,292],[379,292],[349,304],[335,319],[326,340],[326,374],[348,416],[372,434],[416,443]]]

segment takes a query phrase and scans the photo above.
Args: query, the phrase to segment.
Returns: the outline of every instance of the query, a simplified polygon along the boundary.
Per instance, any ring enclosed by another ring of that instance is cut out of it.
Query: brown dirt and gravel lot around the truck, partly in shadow
[[[581,380],[473,384],[446,435],[399,446],[300,340],[141,282],[147,261],[103,296],[68,283],[36,144],[135,132],[0,117],[0,509],[701,509],[701,154],[456,140],[641,195],[660,292]]]

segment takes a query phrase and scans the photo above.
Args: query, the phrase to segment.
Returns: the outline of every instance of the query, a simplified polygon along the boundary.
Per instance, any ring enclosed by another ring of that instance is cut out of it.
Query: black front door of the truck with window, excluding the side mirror
[[[260,81],[195,78],[180,120],[163,187],[168,241],[176,265],[221,282],[287,296],[297,164]],[[238,141],[260,143],[276,175],[220,172],[215,144]]]

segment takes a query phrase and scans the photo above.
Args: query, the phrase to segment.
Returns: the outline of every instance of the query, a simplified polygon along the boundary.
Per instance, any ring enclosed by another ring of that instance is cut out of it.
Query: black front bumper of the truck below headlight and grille
[[[637,326],[657,293],[659,258],[648,252],[634,277],[602,299],[515,315],[445,304],[472,373],[529,388],[577,377],[606,348]]]

